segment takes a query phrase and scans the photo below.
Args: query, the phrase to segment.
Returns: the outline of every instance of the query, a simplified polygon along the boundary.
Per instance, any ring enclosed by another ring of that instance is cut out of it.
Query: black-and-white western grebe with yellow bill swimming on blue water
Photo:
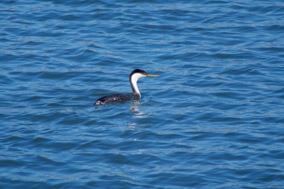
[[[130,76],[129,76],[129,82],[131,85],[131,89],[132,89],[132,94],[113,94],[113,95],[108,95],[108,96],[104,96],[101,97],[99,99],[97,99],[93,105],[103,105],[103,104],[109,104],[109,103],[114,103],[114,102],[123,102],[126,100],[130,100],[130,99],[140,99],[141,95],[137,86],[137,80],[141,77],[156,77],[158,75],[150,75],[147,74],[145,71],[141,70],[141,69],[135,69],[131,72]]]

